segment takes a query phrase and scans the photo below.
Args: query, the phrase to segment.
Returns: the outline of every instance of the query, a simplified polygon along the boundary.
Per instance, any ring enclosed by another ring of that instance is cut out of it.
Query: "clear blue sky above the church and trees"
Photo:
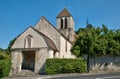
[[[56,26],[56,16],[67,8],[75,20],[75,30],[105,24],[120,29],[120,0],[0,0],[0,48],[35,26],[42,16]]]

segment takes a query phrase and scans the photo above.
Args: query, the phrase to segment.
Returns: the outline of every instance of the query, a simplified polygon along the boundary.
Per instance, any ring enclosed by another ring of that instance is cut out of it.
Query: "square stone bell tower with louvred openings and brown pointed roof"
[[[57,29],[62,33],[69,41],[74,41],[74,19],[72,15],[64,8],[57,16]]]

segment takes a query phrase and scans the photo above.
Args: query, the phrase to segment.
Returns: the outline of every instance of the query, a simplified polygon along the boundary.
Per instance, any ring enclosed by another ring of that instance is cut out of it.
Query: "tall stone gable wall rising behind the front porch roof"
[[[45,34],[48,38],[50,38],[54,43],[57,49],[60,48],[60,33],[55,29],[52,24],[50,24],[47,19],[42,17],[40,21],[35,25],[35,29]]]

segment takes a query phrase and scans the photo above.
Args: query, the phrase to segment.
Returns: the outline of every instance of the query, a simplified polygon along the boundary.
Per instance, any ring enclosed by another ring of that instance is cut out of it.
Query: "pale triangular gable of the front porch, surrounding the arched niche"
[[[41,47],[48,47],[43,36],[36,33],[31,27],[29,27],[24,33],[22,33],[15,41],[15,43],[12,46],[12,49],[17,48],[25,48],[25,39],[28,35],[33,36],[32,37],[32,43],[31,48],[41,48]]]

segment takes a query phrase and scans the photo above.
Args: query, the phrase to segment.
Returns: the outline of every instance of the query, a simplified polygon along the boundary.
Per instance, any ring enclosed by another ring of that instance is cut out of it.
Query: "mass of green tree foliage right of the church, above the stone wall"
[[[77,39],[71,51],[77,57],[84,54],[93,55],[120,55],[120,30],[102,28],[80,28]]]

